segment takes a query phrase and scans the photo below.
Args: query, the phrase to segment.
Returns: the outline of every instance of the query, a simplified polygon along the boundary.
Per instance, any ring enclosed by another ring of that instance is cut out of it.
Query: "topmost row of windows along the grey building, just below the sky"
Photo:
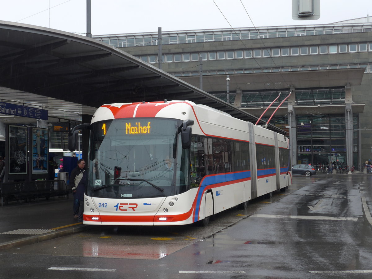
[[[247,39],[282,38],[294,36],[313,36],[329,35],[356,32],[371,32],[371,25],[363,26],[299,26],[296,28],[247,28],[247,29],[226,29],[209,30],[205,32],[187,31],[184,33],[164,33],[161,38],[162,45],[168,44],[187,44],[197,42],[218,42],[218,41],[238,41]],[[114,47],[139,47],[145,45],[157,45],[158,33],[146,35],[121,35],[121,36],[93,36],[93,38],[113,45]]]

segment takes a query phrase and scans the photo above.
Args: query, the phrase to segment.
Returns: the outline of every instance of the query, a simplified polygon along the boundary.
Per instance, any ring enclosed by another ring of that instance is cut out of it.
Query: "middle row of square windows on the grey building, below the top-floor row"
[[[320,45],[320,46],[296,46],[282,48],[262,48],[262,49],[246,49],[246,50],[231,50],[231,51],[209,51],[195,53],[178,53],[164,54],[162,61],[170,62],[190,62],[199,61],[199,57],[203,61],[206,60],[226,60],[226,59],[244,59],[244,58],[260,58],[260,57],[280,57],[294,55],[314,55],[314,54],[336,54],[347,52],[366,52],[372,51],[372,43],[359,44],[339,44],[339,45]],[[158,55],[141,55],[137,56],[142,61],[150,64],[158,62]]]

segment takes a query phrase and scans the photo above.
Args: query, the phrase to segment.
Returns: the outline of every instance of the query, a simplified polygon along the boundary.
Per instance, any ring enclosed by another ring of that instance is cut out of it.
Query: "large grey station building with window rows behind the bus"
[[[358,166],[370,159],[372,146],[369,21],[93,38],[257,117],[280,93],[258,124],[265,124],[285,99],[270,123],[287,132],[292,164],[337,161]]]

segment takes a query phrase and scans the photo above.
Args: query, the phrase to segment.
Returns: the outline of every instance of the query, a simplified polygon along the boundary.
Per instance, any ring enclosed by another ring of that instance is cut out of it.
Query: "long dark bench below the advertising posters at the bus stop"
[[[33,182],[9,182],[0,184],[1,206],[9,201],[25,202],[32,199],[67,196],[71,189],[64,180],[40,180]]]

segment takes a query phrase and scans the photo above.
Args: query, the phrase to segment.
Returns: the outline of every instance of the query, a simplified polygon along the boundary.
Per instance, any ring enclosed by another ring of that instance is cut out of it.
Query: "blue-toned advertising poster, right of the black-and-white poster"
[[[48,129],[32,128],[32,174],[48,173]]]

